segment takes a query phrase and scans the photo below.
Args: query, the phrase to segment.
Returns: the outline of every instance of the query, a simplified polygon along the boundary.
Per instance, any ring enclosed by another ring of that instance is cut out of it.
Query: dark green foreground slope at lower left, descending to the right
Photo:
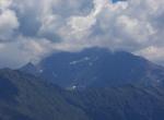
[[[89,120],[62,92],[39,77],[0,70],[0,120]]]

